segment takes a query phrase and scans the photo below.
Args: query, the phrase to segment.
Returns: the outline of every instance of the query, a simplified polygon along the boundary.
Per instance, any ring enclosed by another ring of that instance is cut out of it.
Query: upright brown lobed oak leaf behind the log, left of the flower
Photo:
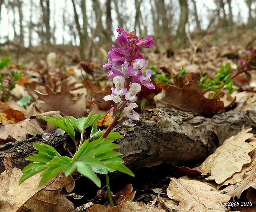
[[[43,112],[59,111],[64,116],[74,116],[76,118],[88,116],[85,106],[85,94],[81,93],[74,102],[69,91],[69,85],[66,81],[62,81],[60,94],[53,92],[49,86],[45,86],[47,94],[36,91],[39,100],[37,107]]]

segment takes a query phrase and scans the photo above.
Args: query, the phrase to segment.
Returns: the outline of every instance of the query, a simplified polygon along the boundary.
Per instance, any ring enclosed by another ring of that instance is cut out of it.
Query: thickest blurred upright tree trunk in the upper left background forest
[[[40,6],[42,9],[42,33],[45,40],[45,44],[51,44],[51,32],[50,32],[50,0],[40,0]]]

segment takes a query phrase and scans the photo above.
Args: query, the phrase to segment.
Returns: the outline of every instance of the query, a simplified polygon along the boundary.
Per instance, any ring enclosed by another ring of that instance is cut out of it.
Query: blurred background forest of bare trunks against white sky
[[[23,47],[77,45],[83,61],[111,47],[117,26],[152,35],[161,51],[184,47],[186,32],[252,28],[255,19],[255,0],[0,0],[0,45],[17,54]]]

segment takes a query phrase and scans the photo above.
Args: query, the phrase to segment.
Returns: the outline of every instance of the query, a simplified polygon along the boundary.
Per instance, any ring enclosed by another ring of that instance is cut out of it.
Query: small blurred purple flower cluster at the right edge
[[[244,54],[243,60],[238,62],[237,70],[239,73],[256,69],[256,49],[251,50],[248,54]]]

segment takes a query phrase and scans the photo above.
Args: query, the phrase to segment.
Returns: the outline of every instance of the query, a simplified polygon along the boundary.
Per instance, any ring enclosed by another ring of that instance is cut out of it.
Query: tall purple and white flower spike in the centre
[[[120,47],[112,46],[112,51],[109,51],[108,63],[103,66],[103,69],[110,69],[107,76],[113,78],[114,87],[111,88],[111,95],[105,96],[105,101],[113,100],[116,104],[121,101],[126,101],[126,106],[118,116],[129,117],[132,120],[140,118],[133,108],[137,107],[134,103],[137,101],[136,94],[140,92],[141,86],[144,85],[149,89],[154,89],[154,85],[150,82],[151,70],[147,70],[146,76],[142,74],[142,68],[146,62],[142,59],[140,47],[150,48],[153,46],[153,38],[148,35],[145,39],[140,39],[134,31],[127,33],[122,28],[118,27],[119,33],[116,44]],[[110,109],[110,114],[113,114],[114,107]]]

